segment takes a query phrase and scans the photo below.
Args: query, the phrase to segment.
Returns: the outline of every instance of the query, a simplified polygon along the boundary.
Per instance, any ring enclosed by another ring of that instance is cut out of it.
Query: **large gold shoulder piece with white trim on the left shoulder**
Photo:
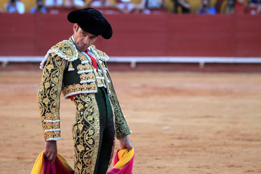
[[[59,57],[62,59],[68,60],[68,61],[74,61],[78,58],[78,51],[76,46],[68,41],[68,40],[63,40],[56,44],[55,46],[52,46],[50,50],[48,50],[47,54],[44,56],[44,59],[42,60],[40,64],[40,68],[43,70],[44,69],[44,63],[48,59],[48,56],[51,53],[57,54]]]

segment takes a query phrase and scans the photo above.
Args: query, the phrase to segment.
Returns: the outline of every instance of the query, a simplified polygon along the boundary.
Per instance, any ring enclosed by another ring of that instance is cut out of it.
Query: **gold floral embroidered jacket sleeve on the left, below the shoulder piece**
[[[65,66],[65,59],[51,53],[44,65],[38,88],[37,101],[46,141],[60,139],[59,106]]]

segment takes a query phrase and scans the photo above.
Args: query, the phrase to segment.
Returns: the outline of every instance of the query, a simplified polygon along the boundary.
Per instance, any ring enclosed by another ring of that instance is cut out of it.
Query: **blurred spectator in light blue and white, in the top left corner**
[[[9,0],[9,2],[5,3],[4,8],[7,13],[23,14],[25,11],[24,4],[19,0]]]

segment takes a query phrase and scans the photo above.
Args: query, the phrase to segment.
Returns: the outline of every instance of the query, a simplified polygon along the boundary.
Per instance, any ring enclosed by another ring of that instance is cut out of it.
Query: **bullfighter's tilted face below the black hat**
[[[97,39],[97,35],[93,35],[78,28],[78,24],[75,23],[73,26],[73,39],[76,45],[77,50],[85,51],[89,46],[91,46]],[[78,28],[78,29],[77,29]]]

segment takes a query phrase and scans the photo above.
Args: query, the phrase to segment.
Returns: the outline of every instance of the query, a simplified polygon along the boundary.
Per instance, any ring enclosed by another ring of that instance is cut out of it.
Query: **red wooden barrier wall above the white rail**
[[[95,45],[110,56],[261,57],[261,16],[106,15],[109,40]],[[44,56],[73,34],[66,14],[0,14],[0,56]]]

